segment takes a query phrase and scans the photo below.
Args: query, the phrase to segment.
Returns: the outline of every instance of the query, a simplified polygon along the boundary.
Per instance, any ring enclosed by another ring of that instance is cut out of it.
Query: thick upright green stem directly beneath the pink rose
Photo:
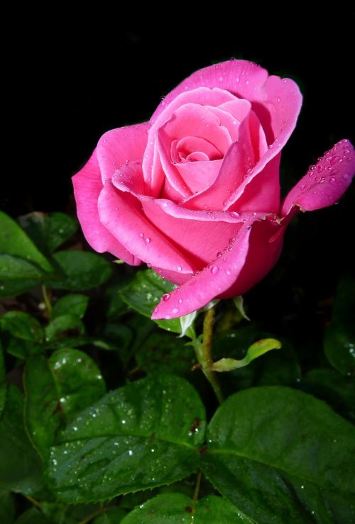
[[[195,353],[197,361],[202,367],[204,376],[211,384],[214,393],[220,404],[224,401],[221,386],[217,375],[211,370],[213,365],[212,360],[212,334],[213,334],[213,323],[214,323],[214,308],[210,308],[204,315],[203,323],[203,335],[202,343],[198,340],[194,340]]]

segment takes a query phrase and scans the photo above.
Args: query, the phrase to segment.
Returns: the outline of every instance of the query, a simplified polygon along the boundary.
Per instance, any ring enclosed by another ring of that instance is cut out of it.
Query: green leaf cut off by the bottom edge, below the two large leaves
[[[193,520],[192,520],[193,519]],[[224,498],[210,495],[195,505],[180,493],[158,495],[131,511],[121,524],[234,524],[253,523]]]

